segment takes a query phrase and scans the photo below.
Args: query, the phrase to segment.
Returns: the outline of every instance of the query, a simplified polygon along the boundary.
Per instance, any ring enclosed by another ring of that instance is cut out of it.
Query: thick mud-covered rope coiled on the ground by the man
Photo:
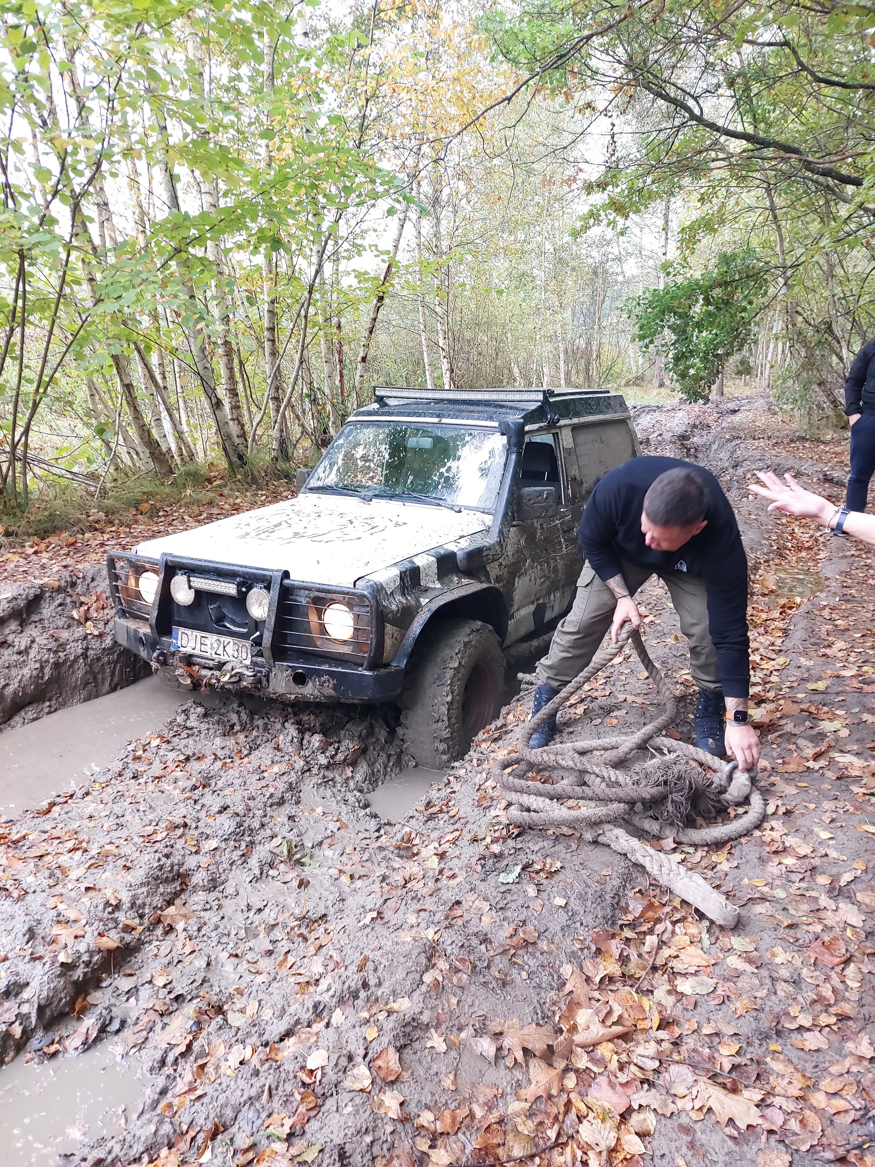
[[[532,749],[528,743],[534,731],[559,713],[630,642],[662,698],[664,712],[632,734]],[[494,775],[512,804],[508,811],[512,825],[540,830],[569,827],[588,841],[604,843],[639,864],[715,923],[734,928],[738,910],[726,896],[701,875],[623,830],[626,825],[654,838],[673,837],[681,844],[721,845],[747,834],[765,817],[762,795],[751,776],[738,770],[735,762],[723,762],[695,746],[663,736],[677,712],[674,694],[640,634],[624,628],[616,644],[607,641],[583,672],[522,727],[517,754],[498,759]],[[663,753],[629,769],[617,768],[645,748],[651,755],[657,749]],[[531,775],[537,775],[538,781],[532,781]],[[541,781],[545,777],[551,781]],[[568,802],[575,805],[562,805]],[[704,827],[687,825],[691,818],[716,818],[744,803],[743,811],[723,822]]]

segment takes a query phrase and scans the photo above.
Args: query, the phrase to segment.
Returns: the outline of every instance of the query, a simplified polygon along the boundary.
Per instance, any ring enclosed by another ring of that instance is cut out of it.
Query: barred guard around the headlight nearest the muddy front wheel
[[[349,641],[336,641],[326,635],[322,613],[330,603],[343,603],[352,612],[354,631]],[[276,661],[287,661],[299,652],[317,652],[364,664],[370,648],[371,608],[366,595],[316,592],[288,582],[282,585],[273,633]]]

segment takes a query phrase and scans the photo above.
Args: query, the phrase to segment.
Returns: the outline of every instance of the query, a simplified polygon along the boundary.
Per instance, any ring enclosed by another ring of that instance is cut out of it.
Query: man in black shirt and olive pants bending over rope
[[[677,457],[624,462],[593,489],[580,544],[586,562],[578,595],[538,665],[532,714],[586,669],[608,628],[616,641],[626,621],[639,627],[632,596],[656,574],[690,642],[690,671],[699,686],[695,743],[752,769],[760,739],[748,725],[748,561],[714,475]],[[546,746],[555,728],[552,718],[536,729],[531,746]]]

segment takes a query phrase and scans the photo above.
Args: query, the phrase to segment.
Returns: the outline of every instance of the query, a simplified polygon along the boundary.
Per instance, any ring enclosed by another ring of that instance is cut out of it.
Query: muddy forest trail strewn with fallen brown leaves
[[[738,927],[604,847],[509,829],[489,770],[522,701],[397,826],[368,806],[400,766],[379,717],[183,705],[2,824],[5,1056],[116,1043],[149,1075],[68,1167],[875,1163],[872,557],[744,489],[792,468],[838,496],[845,446],[798,440],[757,399],[636,424],[645,452],[721,477],[751,555],[769,817],[720,851],[662,847]],[[688,736],[660,585],[642,609]],[[560,727],[634,729],[650,699],[626,651]]]

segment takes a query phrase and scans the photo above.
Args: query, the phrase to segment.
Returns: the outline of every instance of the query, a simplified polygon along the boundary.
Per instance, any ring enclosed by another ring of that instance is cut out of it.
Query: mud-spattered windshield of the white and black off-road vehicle
[[[420,496],[495,509],[506,442],[495,429],[408,421],[355,421],[341,429],[307,489]]]

